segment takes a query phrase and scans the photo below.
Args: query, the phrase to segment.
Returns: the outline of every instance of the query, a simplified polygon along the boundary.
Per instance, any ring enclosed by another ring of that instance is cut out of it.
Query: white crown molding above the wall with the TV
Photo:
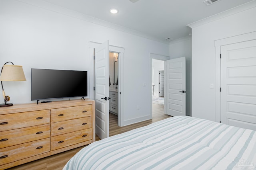
[[[28,4],[28,5],[36,6],[38,8],[42,8],[42,9],[49,10],[49,11],[52,11],[52,12],[56,12],[56,13],[59,13],[59,14],[63,14],[63,15],[66,15],[66,16],[70,16],[70,17],[73,17],[73,18],[77,18],[77,19],[80,19],[80,20],[84,20],[84,21],[94,23],[94,24],[97,24],[97,25],[101,25],[101,26],[104,26],[104,27],[108,27],[108,28],[111,28],[111,29],[115,29],[117,31],[122,31],[122,32],[125,32],[125,33],[129,33],[129,34],[136,35],[136,36],[139,36],[139,37],[143,37],[143,38],[146,38],[146,39],[150,39],[150,40],[153,40],[153,41],[158,41],[160,43],[169,44],[169,41],[158,39],[158,38],[153,37],[151,35],[142,33],[140,31],[136,31],[134,29],[130,29],[130,28],[127,28],[127,27],[116,25],[114,23],[110,23],[110,22],[107,22],[107,21],[104,21],[104,20],[100,20],[98,18],[94,18],[94,17],[88,16],[88,15],[82,14],[80,12],[69,10],[67,8],[51,4],[51,3],[46,2],[44,0],[16,0],[16,1]]]

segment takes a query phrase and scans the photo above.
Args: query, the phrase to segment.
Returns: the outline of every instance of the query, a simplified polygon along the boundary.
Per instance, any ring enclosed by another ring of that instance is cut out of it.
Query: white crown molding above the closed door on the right
[[[191,27],[191,28],[198,27],[200,25],[204,25],[206,23],[210,23],[212,21],[216,21],[216,20],[219,20],[221,18],[225,18],[225,17],[231,16],[233,14],[236,14],[236,13],[239,13],[239,12],[242,12],[242,11],[245,11],[245,10],[249,10],[249,9],[255,8],[255,7],[256,7],[256,0],[253,0],[251,2],[247,2],[246,4],[242,4],[240,6],[231,8],[230,10],[226,10],[224,12],[220,12],[218,14],[215,14],[213,16],[204,18],[202,20],[190,23],[187,26]]]

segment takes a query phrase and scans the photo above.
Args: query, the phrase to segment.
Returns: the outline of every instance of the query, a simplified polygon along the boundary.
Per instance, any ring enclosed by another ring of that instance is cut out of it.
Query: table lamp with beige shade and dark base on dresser
[[[8,61],[7,63],[12,63]],[[17,66],[12,63],[12,65],[6,65],[5,63],[1,70],[0,80],[4,96],[4,104],[0,104],[0,107],[13,106],[12,103],[6,103],[10,101],[9,96],[5,96],[4,87],[2,81],[26,81],[22,66]]]

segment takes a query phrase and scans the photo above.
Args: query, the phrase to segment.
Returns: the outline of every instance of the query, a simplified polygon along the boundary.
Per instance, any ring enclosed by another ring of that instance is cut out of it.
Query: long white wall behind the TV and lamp
[[[7,61],[22,65],[27,79],[3,82],[10,102],[32,102],[31,68],[88,70],[93,81],[89,41],[103,43],[109,39],[110,45],[125,49],[124,121],[130,124],[150,118],[150,53],[168,56],[168,44],[94,24],[83,14],[44,1],[22,1],[0,1],[0,65]],[[93,87],[89,88],[88,92],[92,91]]]

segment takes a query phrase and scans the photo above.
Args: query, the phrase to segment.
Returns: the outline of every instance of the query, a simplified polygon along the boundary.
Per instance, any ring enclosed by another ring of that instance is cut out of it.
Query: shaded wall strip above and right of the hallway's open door
[[[170,59],[186,57],[186,115],[191,116],[191,37],[185,37],[170,43]]]

